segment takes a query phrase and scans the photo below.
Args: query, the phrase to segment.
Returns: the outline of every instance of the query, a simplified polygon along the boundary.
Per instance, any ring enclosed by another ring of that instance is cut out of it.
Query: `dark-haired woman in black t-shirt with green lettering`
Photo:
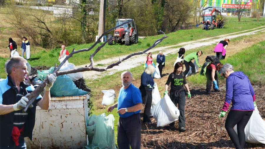
[[[179,127],[180,132],[183,132],[186,130],[185,129],[185,114],[184,114],[184,108],[185,108],[184,86],[186,87],[188,91],[188,99],[191,98],[189,86],[186,82],[186,77],[184,77],[182,70],[183,70],[182,63],[177,62],[175,64],[174,72],[168,76],[168,80],[165,84],[165,93],[164,93],[164,95],[168,94],[168,85],[171,82],[169,97],[175,106],[177,106],[178,104],[178,110],[180,112],[180,115],[178,117],[178,127]],[[172,122],[169,124],[171,129],[174,128],[174,124],[175,122]]]

